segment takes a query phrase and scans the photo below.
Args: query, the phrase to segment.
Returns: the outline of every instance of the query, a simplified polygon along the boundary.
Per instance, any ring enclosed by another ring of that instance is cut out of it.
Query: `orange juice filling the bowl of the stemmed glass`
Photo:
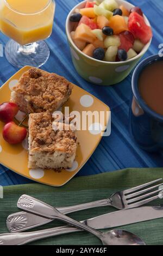
[[[0,30],[21,45],[46,39],[54,10],[52,0],[0,0]]]

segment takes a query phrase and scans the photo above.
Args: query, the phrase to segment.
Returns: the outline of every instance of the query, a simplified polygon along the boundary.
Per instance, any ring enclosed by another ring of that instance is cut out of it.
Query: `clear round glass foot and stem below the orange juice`
[[[39,68],[47,62],[49,54],[49,47],[45,41],[22,46],[14,40],[9,40],[5,46],[5,57],[9,63],[18,68],[23,66]]]

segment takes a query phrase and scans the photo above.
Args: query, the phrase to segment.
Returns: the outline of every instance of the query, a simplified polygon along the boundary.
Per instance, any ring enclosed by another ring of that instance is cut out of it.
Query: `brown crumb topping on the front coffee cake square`
[[[48,112],[34,113],[29,115],[29,133],[31,136],[31,152],[60,151],[73,155],[77,149],[76,132],[72,131],[70,125],[55,123],[56,126],[63,125],[63,130],[53,130],[53,118]]]

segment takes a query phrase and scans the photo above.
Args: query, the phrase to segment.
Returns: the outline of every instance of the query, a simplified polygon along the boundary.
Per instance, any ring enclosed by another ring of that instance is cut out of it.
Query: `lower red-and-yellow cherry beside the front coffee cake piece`
[[[3,127],[2,135],[9,144],[18,144],[26,138],[27,130],[14,122],[10,122]]]

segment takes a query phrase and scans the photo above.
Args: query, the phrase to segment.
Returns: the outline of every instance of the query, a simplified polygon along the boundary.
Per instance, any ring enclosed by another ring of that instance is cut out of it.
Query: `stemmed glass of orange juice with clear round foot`
[[[0,31],[11,38],[5,56],[18,68],[39,68],[49,57],[47,39],[53,28],[54,0],[0,0]]]

